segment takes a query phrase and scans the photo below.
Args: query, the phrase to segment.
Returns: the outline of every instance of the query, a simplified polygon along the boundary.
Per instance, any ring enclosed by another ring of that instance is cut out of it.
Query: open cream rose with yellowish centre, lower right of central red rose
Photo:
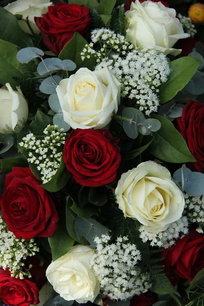
[[[183,192],[168,169],[151,161],[123,173],[115,193],[124,216],[137,219],[150,233],[165,231],[184,210]]]

